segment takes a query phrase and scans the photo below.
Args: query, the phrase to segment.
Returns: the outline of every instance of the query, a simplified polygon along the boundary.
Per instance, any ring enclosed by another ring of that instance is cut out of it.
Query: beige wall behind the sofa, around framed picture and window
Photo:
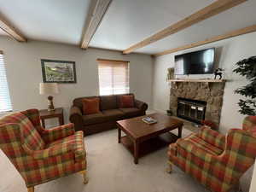
[[[73,98],[98,95],[97,58],[131,61],[130,91],[144,102],[151,104],[152,68],[150,55],[122,55],[116,51],[101,49],[79,49],[79,46],[53,44],[39,41],[18,43],[1,37],[0,50],[3,50],[7,79],[14,110],[27,108],[47,108],[46,96],[40,96],[38,86],[42,82],[40,59],[75,61],[77,84],[60,84],[61,94],[55,96],[55,107],[68,111]]]

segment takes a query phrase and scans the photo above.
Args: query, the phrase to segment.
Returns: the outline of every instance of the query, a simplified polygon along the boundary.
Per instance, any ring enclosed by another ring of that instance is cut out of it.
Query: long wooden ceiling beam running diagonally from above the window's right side
[[[168,26],[164,30],[155,33],[149,38],[144,39],[143,41],[132,45],[130,48],[125,49],[123,54],[129,54],[136,49],[143,48],[148,44],[153,44],[154,42],[166,38],[167,36],[174,34],[176,32],[180,32],[181,30],[193,26],[194,24],[200,22],[201,20],[206,20],[214,15],[218,15],[224,12],[227,9],[235,7],[238,4],[244,3],[247,0],[217,0],[216,2],[210,4],[209,6],[201,9],[195,14],[189,15],[183,20],[178,21],[177,23],[173,24],[172,26]]]

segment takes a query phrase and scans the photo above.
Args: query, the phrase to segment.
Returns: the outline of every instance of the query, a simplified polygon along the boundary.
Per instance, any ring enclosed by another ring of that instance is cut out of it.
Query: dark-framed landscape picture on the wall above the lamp
[[[44,83],[77,83],[74,61],[41,60]]]

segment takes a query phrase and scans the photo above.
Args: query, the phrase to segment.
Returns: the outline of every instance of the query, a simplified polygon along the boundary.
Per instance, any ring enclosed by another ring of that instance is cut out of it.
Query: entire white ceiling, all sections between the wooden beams
[[[127,49],[212,2],[113,0],[90,47]],[[79,45],[89,6],[90,0],[0,0],[0,13],[28,39]],[[136,52],[154,54],[254,25],[255,8],[256,0],[248,0]]]

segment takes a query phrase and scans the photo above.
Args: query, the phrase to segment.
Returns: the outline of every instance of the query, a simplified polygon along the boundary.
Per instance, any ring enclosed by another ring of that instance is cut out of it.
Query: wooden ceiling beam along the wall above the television
[[[198,46],[201,46],[201,45],[204,45],[204,44],[210,44],[210,43],[213,43],[213,42],[224,40],[226,38],[233,38],[233,37],[236,37],[236,36],[239,36],[239,35],[244,35],[244,34],[247,34],[249,32],[256,32],[256,25],[247,26],[245,28],[241,28],[241,29],[238,29],[238,30],[235,30],[235,31],[232,31],[232,32],[228,32],[224,35],[216,36],[214,38],[207,38],[206,40],[199,41],[195,44],[187,44],[187,45],[175,48],[175,49],[168,49],[166,51],[154,54],[154,56],[171,54],[171,53],[174,53],[174,52],[177,52],[177,51],[180,51],[180,50],[190,49],[190,48],[198,47]]]

